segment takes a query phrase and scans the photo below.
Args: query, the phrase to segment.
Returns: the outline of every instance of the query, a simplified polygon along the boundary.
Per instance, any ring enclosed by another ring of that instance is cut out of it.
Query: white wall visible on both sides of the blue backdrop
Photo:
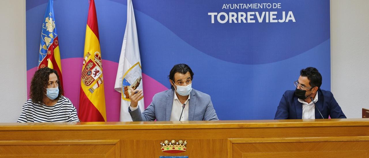
[[[331,90],[348,118],[369,108],[369,1],[331,0]],[[0,0],[0,122],[27,99],[25,0]]]

